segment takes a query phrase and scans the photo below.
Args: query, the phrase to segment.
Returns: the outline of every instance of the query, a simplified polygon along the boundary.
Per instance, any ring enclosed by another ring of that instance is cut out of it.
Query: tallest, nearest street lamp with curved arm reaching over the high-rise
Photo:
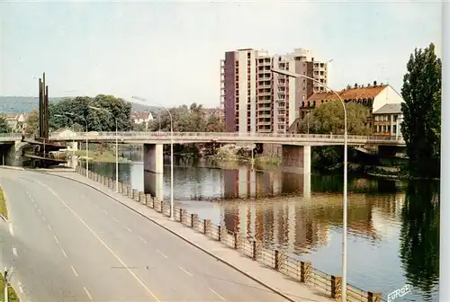
[[[328,85],[321,83],[319,80],[316,80],[315,78],[311,76],[304,76],[301,74],[295,74],[286,70],[281,69],[275,69],[272,68],[271,71],[278,75],[283,76],[291,76],[295,78],[306,78],[309,79],[315,83],[318,83],[325,88],[329,89],[332,93],[336,94],[339,101],[342,104],[342,108],[344,110],[344,193],[342,198],[342,208],[344,210],[344,214],[342,217],[342,301],[347,302],[347,109],[346,109],[346,103],[340,95],[335,92],[333,89],[329,88]]]

